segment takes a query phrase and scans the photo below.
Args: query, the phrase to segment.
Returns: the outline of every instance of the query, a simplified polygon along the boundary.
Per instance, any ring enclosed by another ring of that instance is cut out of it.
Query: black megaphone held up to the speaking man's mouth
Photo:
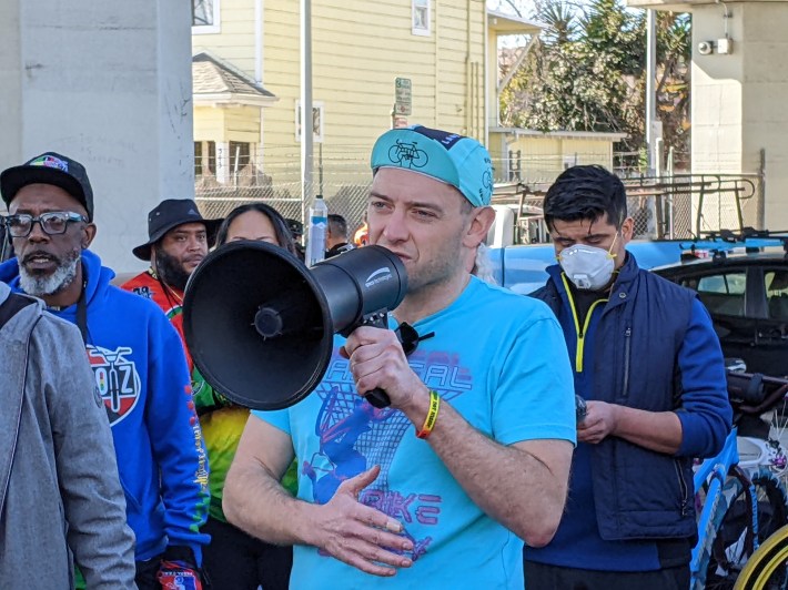
[[[230,400],[281,409],[306,397],[329,367],[333,335],[361,325],[387,327],[407,291],[405,267],[382,246],[366,246],[311,269],[284,248],[233,242],[192,273],[183,327],[205,380]],[[388,405],[384,391],[364,394]]]

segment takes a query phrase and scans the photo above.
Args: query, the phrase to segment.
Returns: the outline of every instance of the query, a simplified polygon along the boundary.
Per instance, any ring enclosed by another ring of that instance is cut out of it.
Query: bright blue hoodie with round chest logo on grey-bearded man
[[[99,256],[83,251],[82,269],[88,357],[112,426],[135,558],[185,546],[200,563],[210,539],[199,530],[208,458],[180,337],[153,302],[110,285],[114,273]],[[0,265],[0,281],[21,291],[17,258]],[[77,305],[50,312],[78,324]]]

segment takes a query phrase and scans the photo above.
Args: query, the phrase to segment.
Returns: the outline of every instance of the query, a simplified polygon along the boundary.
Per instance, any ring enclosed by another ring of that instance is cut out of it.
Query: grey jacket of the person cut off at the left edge
[[[0,305],[9,287],[0,283]],[[36,301],[0,328],[0,588],[137,588],[112,434],[79,330]]]

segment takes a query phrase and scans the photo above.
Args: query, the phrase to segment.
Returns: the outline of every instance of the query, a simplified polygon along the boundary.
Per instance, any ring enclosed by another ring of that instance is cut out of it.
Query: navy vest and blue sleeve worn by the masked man
[[[572,313],[562,271],[555,265],[548,273],[547,285],[533,296],[562,319]],[[683,428],[675,456],[613,436],[593,446],[594,500],[603,539],[696,532],[693,458],[716,455],[731,421],[719,342],[708,314],[698,306],[691,291],[640,269],[629,254],[602,315],[595,316],[594,398],[676,411]],[[703,346],[687,350],[683,345],[694,313],[701,317]],[[572,323],[562,321],[565,332],[567,325]],[[685,374],[681,366],[691,370]]]

